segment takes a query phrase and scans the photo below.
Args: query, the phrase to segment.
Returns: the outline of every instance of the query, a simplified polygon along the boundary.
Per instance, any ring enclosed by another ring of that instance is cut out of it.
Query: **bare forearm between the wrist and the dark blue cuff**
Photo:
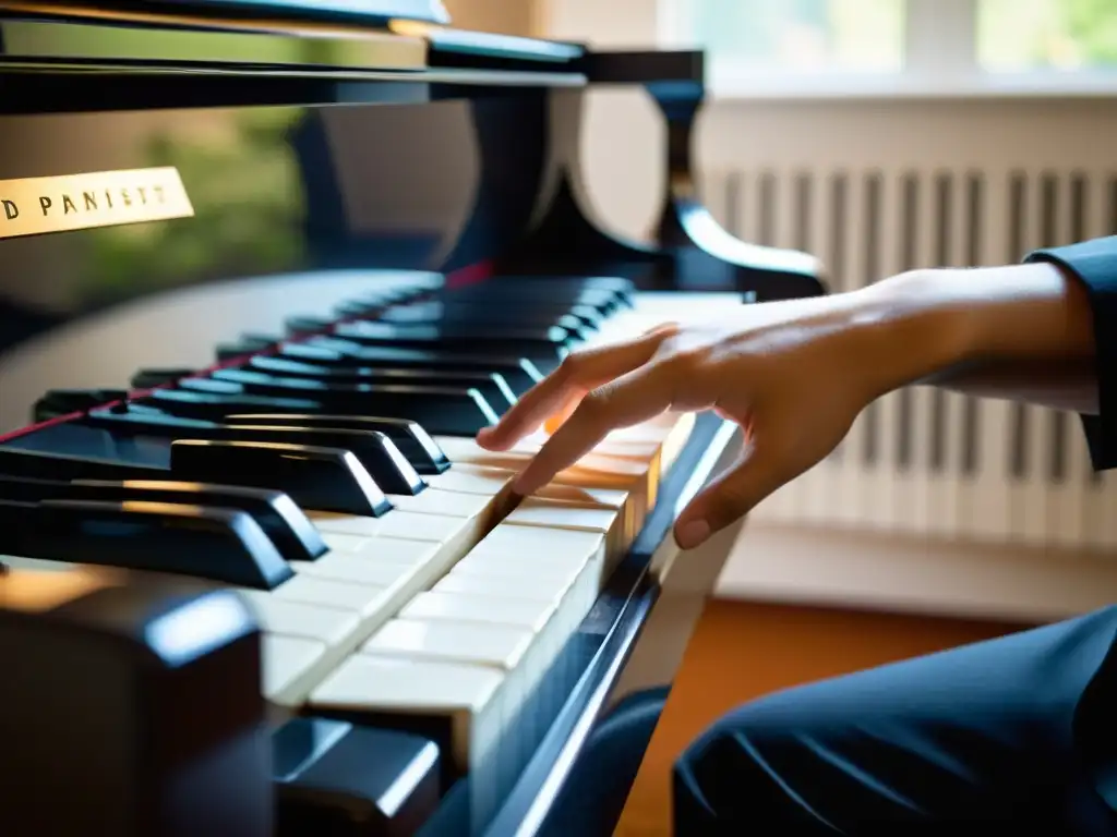
[[[918,271],[866,291],[888,311],[886,388],[930,384],[1080,413],[1098,410],[1086,288],[1049,263]]]

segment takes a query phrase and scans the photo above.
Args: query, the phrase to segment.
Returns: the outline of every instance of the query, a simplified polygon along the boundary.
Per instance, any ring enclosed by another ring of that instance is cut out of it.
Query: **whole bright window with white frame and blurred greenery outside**
[[[657,0],[715,90],[1117,93],[1115,0]]]

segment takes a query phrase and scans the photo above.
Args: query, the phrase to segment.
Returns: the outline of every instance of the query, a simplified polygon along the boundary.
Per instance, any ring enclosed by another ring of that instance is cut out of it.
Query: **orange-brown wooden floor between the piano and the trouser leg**
[[[670,767],[725,711],[785,686],[1025,627],[926,616],[712,600],[687,647],[617,835],[670,835]]]

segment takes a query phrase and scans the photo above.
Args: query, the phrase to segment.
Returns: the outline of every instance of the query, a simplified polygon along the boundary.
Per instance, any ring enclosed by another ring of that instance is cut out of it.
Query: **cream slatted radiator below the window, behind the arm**
[[[1108,170],[758,167],[704,187],[744,240],[821,257],[834,290],[1117,232]],[[1075,415],[911,387],[870,405],[752,521],[1113,550],[1117,474],[1092,471]]]

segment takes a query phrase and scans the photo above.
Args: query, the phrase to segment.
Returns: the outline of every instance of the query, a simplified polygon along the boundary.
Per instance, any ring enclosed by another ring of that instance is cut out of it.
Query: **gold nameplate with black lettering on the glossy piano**
[[[193,214],[173,166],[0,180],[0,239]]]

